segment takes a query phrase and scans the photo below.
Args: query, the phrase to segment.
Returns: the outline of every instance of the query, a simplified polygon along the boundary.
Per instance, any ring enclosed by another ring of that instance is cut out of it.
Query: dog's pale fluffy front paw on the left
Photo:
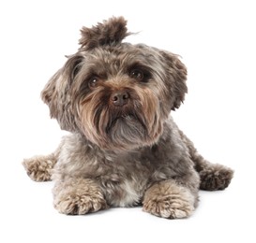
[[[93,179],[56,181],[53,196],[54,207],[64,214],[86,214],[108,207],[98,183]]]

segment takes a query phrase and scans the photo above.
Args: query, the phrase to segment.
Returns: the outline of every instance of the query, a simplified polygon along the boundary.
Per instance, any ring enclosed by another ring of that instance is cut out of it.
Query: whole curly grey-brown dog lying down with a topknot
[[[61,213],[142,204],[160,217],[188,217],[199,189],[226,188],[233,170],[204,160],[170,117],[187,93],[185,65],[166,50],[122,42],[126,23],[83,27],[80,49],[41,93],[70,135],[23,165],[32,179],[55,181]]]

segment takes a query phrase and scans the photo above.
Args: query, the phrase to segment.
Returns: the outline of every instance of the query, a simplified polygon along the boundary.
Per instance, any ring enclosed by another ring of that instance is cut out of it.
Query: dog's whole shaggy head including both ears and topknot
[[[80,50],[42,91],[61,128],[106,150],[154,144],[187,92],[187,70],[167,51],[122,43],[126,21],[82,30]]]

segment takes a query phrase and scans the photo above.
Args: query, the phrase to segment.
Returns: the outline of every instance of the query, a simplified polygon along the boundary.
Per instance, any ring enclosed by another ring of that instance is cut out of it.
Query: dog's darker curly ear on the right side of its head
[[[180,107],[185,99],[185,94],[188,93],[187,68],[177,55],[165,50],[160,50],[160,54],[166,64],[167,86],[173,95],[172,109],[175,110]]]

